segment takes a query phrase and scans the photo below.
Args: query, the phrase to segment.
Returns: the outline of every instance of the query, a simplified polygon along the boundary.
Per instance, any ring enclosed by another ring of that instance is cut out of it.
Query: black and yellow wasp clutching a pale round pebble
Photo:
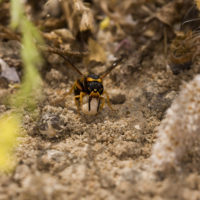
[[[65,56],[63,58],[81,76],[81,78],[74,82],[70,91],[66,94],[69,95],[74,92],[74,101],[77,106],[77,111],[80,112],[81,110],[85,114],[96,115],[103,109],[105,102],[111,110],[114,110],[111,106],[108,92],[104,89],[103,79],[122,62],[124,56],[121,56],[119,59],[114,61],[108,70],[106,70],[102,75],[83,75],[82,72],[68,58]]]

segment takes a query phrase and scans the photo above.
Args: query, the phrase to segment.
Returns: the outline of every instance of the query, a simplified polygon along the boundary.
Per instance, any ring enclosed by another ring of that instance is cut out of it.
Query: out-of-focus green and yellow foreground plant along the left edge
[[[23,108],[33,110],[36,96],[41,91],[41,78],[37,67],[42,59],[36,44],[42,43],[37,28],[27,19],[24,5],[20,0],[11,0],[11,27],[22,35],[21,58],[24,76],[20,89],[11,96],[10,104],[14,111],[0,116],[0,171],[11,170],[14,166],[14,148],[21,132]]]

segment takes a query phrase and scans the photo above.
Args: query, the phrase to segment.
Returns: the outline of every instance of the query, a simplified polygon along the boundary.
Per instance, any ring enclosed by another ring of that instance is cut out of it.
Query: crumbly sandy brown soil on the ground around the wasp
[[[163,37],[166,29],[170,43],[174,28],[157,19],[148,24],[161,27],[157,36],[128,32],[125,39],[131,46],[126,62],[104,79],[114,111],[106,104],[95,116],[79,114],[74,95],[64,96],[78,75],[66,70],[57,55],[46,55],[51,66],[46,63],[41,71],[42,101],[34,112],[24,113],[27,133],[18,138],[15,170],[0,175],[0,200],[200,199],[199,171],[155,171],[149,160],[167,108],[182,82],[191,80],[200,68],[196,61],[190,69],[174,74]],[[107,43],[100,36],[97,39],[107,53],[113,54],[117,40]],[[138,48],[141,44],[144,51]],[[20,65],[18,50],[13,50],[13,57],[10,51],[7,45],[1,50],[10,58],[6,62]],[[79,68],[87,71],[81,64]],[[99,74],[106,68],[95,65],[91,70]],[[1,97],[11,92],[13,89],[1,84]],[[0,112],[7,109],[1,103]]]

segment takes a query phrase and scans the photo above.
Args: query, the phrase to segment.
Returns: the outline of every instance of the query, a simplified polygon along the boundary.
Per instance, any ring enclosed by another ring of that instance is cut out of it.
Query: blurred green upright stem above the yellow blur
[[[35,93],[40,93],[41,89],[41,78],[37,67],[42,64],[36,44],[41,44],[43,40],[38,29],[26,18],[23,9],[23,4],[19,0],[12,0],[11,26],[18,28],[22,34],[21,57],[24,64],[24,77],[21,88],[16,95],[12,96],[11,104],[14,107],[34,109],[36,96],[38,96]]]

